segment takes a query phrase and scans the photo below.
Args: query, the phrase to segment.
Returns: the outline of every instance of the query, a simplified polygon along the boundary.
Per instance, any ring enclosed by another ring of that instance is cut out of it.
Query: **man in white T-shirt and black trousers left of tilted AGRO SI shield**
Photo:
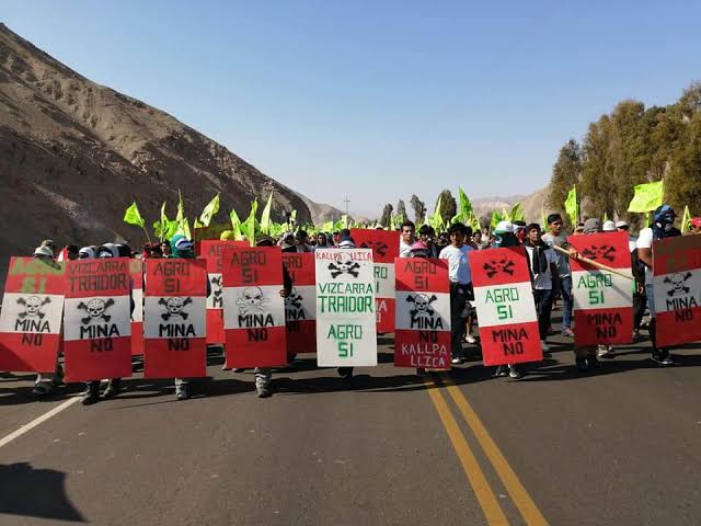
[[[464,244],[466,228],[461,222],[455,222],[448,229],[450,244],[440,251],[440,259],[448,260],[448,277],[450,279],[450,328],[451,357],[453,364],[464,362],[462,338],[466,322],[474,300],[472,289],[472,274],[470,273],[470,252],[472,249]]]

